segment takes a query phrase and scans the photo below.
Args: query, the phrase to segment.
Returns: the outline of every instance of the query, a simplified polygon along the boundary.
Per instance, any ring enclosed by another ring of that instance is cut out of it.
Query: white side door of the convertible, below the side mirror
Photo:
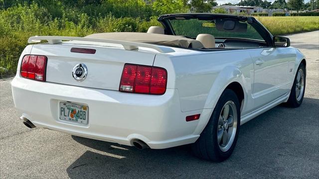
[[[291,62],[296,53],[289,47],[258,48],[250,51],[254,63],[253,98],[255,109],[284,96],[291,89]]]

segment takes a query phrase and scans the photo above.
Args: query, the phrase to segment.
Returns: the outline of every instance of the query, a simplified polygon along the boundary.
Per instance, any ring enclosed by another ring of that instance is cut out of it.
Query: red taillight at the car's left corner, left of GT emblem
[[[20,74],[23,78],[45,82],[46,56],[25,55],[22,59]]]

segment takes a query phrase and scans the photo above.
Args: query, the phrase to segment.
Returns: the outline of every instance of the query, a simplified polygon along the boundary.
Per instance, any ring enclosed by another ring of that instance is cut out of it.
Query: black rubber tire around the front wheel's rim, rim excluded
[[[302,76],[303,80],[304,80],[304,88],[302,90],[302,96],[301,98],[298,100],[298,98],[296,97],[296,92],[297,92],[297,77],[298,77],[298,72],[302,70],[304,75]],[[306,67],[303,63],[301,63],[298,67],[298,70],[297,70],[297,73],[296,73],[296,76],[295,76],[295,80],[294,80],[294,84],[293,84],[293,87],[291,89],[291,92],[290,92],[290,96],[289,96],[289,99],[287,101],[287,105],[289,107],[299,107],[302,103],[303,103],[303,100],[304,100],[304,95],[305,95],[305,89],[306,89]]]

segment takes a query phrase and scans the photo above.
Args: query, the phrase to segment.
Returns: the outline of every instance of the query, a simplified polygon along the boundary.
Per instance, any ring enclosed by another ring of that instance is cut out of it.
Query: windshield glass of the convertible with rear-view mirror
[[[227,21],[227,22],[226,22]],[[265,41],[256,29],[237,19],[170,19],[175,35],[196,38],[198,34],[211,34],[215,38],[245,38]]]

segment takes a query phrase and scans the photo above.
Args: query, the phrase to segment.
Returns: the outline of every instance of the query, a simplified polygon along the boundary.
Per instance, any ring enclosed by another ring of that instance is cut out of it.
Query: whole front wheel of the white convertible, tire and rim
[[[299,107],[304,100],[306,89],[306,67],[301,63],[298,67],[298,71],[295,77],[293,87],[290,92],[287,104],[290,107]]]

